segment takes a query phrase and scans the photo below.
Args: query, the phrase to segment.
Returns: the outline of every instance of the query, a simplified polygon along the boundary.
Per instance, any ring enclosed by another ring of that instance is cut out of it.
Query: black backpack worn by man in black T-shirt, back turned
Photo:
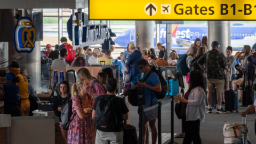
[[[99,97],[101,99],[96,106],[95,127],[99,131],[112,132],[117,124],[115,103],[113,101],[117,97],[110,99],[106,98],[106,95]]]

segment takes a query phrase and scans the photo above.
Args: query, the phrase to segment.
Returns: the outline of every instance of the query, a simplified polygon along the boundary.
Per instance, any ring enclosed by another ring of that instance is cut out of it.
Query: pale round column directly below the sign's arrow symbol
[[[135,46],[139,46],[141,50],[145,47],[154,47],[153,21],[135,21],[135,34]]]

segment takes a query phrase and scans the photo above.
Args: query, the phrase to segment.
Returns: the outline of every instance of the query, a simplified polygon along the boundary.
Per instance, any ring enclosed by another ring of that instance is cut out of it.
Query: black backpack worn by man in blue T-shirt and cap
[[[161,74],[161,72],[159,70],[156,70],[155,67],[152,67],[151,68],[151,71],[147,74],[147,76],[143,79],[142,83],[143,82],[146,82],[146,80],[148,79],[148,77],[153,73],[155,72],[158,77],[159,77],[159,81],[161,83],[161,87],[162,87],[162,91],[161,92],[155,92],[156,94],[156,98],[159,100],[159,99],[163,99],[168,91],[167,89],[167,82],[165,81],[163,75]]]

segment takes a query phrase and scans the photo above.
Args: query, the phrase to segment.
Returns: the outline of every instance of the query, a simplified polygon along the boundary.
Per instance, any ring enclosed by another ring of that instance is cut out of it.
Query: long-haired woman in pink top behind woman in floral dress
[[[97,78],[93,77],[90,73],[90,71],[87,68],[81,68],[77,71],[77,76],[79,78],[86,78],[90,85],[94,86],[95,89],[93,89],[93,87],[91,87],[89,93],[92,95],[93,100],[95,100],[99,95],[105,95],[105,89],[103,87],[103,85],[98,81]],[[93,132],[93,142],[95,143],[95,137],[96,137],[96,131],[97,129],[94,127],[95,124],[95,119],[91,118],[91,123],[93,125],[92,127],[92,132]]]

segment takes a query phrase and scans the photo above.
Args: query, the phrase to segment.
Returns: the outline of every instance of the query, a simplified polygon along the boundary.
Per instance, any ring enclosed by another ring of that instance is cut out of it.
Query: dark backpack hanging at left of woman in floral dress
[[[80,105],[82,105],[82,99],[79,97],[79,95],[76,95],[75,97],[78,97],[80,99]],[[72,99],[69,99],[61,107],[60,118],[61,118],[63,130],[68,131],[70,122],[72,122],[74,117],[76,116],[76,111],[75,111],[72,119],[70,119],[72,114],[73,114],[72,113]]]

